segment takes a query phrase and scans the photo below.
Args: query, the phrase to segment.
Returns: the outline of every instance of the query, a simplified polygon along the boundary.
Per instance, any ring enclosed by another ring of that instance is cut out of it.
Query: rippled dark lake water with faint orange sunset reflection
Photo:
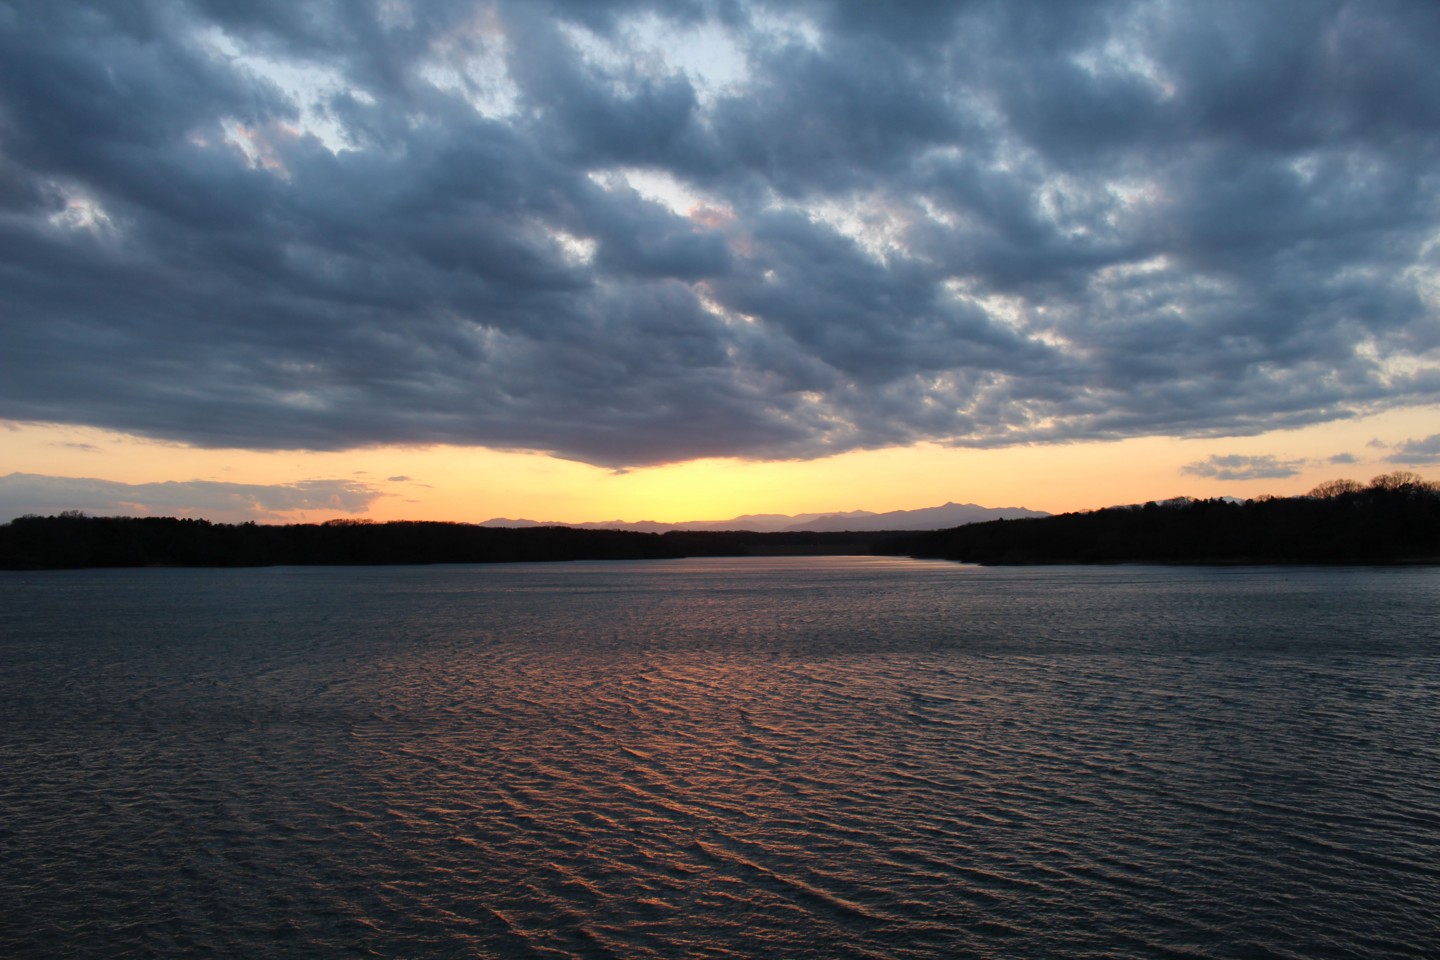
[[[1421,957],[1440,570],[0,574],[4,957]]]

